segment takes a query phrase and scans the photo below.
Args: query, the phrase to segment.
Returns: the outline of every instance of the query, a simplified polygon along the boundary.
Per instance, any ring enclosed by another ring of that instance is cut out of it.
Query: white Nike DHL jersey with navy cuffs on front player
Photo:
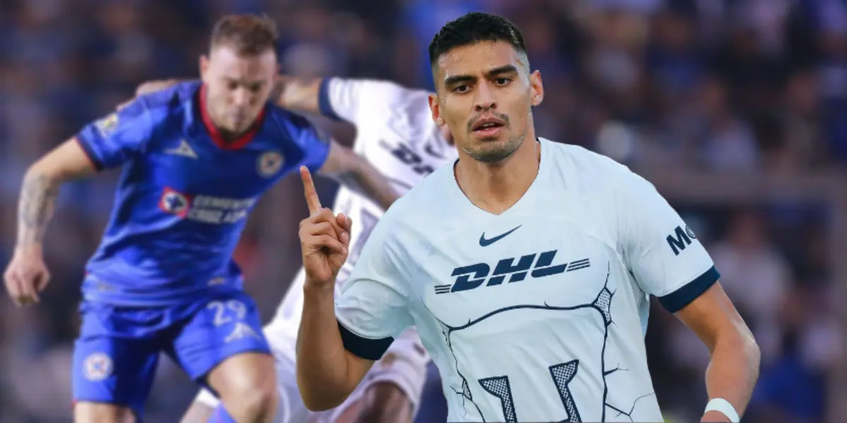
[[[645,179],[539,142],[537,178],[501,215],[473,206],[452,166],[390,208],[336,299],[345,347],[373,360],[416,326],[448,421],[662,421],[649,295],[675,312],[717,271]]]

